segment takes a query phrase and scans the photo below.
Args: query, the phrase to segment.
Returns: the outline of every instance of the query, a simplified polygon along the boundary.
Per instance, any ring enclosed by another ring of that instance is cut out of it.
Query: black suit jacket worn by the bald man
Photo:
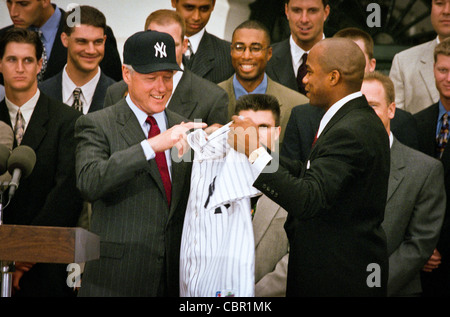
[[[306,164],[272,154],[254,183],[288,212],[287,296],[386,296],[388,256],[381,228],[389,139],[364,97],[347,102]],[[379,287],[367,280],[375,263]]]

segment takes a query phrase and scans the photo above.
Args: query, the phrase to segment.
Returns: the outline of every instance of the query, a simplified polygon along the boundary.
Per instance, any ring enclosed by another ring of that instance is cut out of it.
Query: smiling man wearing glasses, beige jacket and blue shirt
[[[287,88],[267,76],[267,62],[272,57],[269,32],[257,21],[245,21],[233,32],[231,43],[231,62],[235,74],[219,83],[229,97],[228,115],[234,115],[236,100],[246,94],[269,94],[280,103],[280,144],[291,109],[308,99],[299,92]]]

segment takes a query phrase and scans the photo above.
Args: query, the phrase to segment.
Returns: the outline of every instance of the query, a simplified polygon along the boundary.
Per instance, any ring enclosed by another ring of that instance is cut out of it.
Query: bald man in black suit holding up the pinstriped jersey
[[[233,117],[228,142],[260,172],[253,186],[288,212],[287,296],[386,296],[389,140],[360,92],[364,68],[352,40],[311,49],[303,81],[311,105],[326,113],[305,164],[245,142],[245,130],[257,129]]]

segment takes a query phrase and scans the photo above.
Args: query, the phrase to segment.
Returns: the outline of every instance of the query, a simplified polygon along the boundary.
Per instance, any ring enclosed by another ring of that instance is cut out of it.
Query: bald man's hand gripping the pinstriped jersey
[[[247,157],[260,147],[258,126],[249,118],[233,116],[228,133],[228,144]]]

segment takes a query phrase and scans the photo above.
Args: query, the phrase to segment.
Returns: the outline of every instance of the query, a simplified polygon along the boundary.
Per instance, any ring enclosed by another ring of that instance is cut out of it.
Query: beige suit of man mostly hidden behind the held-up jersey
[[[284,230],[287,212],[263,195],[253,218],[255,296],[286,296],[289,242]]]

